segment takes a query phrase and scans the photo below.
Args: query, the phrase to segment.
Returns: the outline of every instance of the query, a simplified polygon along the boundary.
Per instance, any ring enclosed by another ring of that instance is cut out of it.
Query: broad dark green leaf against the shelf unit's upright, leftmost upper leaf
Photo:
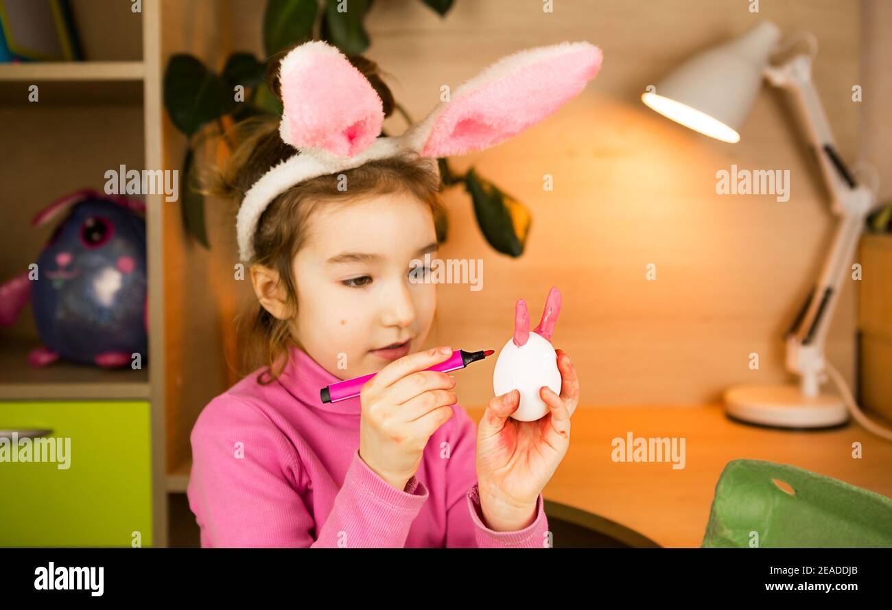
[[[235,105],[227,85],[189,54],[176,54],[164,70],[164,108],[186,136],[217,120]]]

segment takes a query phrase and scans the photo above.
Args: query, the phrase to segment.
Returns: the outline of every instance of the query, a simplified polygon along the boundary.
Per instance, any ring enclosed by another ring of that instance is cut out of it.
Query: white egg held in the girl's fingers
[[[513,338],[508,339],[492,372],[492,389],[496,396],[515,389],[520,392],[520,406],[511,416],[517,421],[533,422],[548,415],[549,406],[539,398],[543,385],[560,395],[558,354],[551,343],[537,333],[530,333],[521,347],[515,345]]]

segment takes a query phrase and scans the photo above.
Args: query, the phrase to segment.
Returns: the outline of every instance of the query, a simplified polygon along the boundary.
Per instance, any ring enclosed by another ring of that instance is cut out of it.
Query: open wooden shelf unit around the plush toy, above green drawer
[[[102,190],[104,171],[162,168],[161,6],[142,11],[114,0],[72,0],[85,60],[0,64],[0,281],[20,274],[54,227],[31,229],[37,210],[79,188]],[[29,87],[38,100],[30,102]],[[147,400],[151,406],[153,546],[167,546],[164,257],[161,195],[145,195],[149,346],[142,370],[67,362],[30,367],[40,345],[30,304],[0,329],[0,400]],[[129,404],[129,403],[124,403]],[[137,404],[137,403],[133,403]]]

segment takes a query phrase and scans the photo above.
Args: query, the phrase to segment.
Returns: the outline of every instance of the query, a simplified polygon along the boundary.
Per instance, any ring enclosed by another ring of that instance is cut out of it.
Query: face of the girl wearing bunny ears
[[[329,373],[350,379],[418,351],[436,309],[433,283],[412,260],[436,257],[434,217],[411,194],[321,205],[294,259],[298,314],[292,332]],[[424,274],[424,275],[421,275]],[[414,280],[414,281],[413,281]],[[401,350],[376,351],[408,342]]]

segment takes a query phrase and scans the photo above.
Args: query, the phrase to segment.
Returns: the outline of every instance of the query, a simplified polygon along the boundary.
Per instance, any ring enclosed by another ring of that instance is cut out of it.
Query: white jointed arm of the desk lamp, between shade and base
[[[797,55],[786,64],[765,70],[765,77],[793,96],[828,187],[832,210],[840,217],[818,282],[787,332],[787,368],[802,375],[802,391],[806,396],[816,396],[823,381],[819,375],[824,369],[824,341],[836,309],[839,288],[861,238],[864,218],[876,197],[870,189],[855,182],[838,155],[812,81],[811,57]]]

